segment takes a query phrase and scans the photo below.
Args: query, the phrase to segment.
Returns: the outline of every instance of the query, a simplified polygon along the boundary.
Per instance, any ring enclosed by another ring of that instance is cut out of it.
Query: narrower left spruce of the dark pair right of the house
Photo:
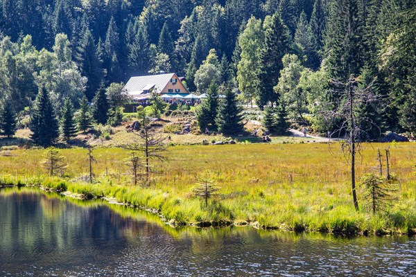
[[[202,132],[205,128],[216,129],[216,116],[218,111],[218,85],[211,82],[207,90],[207,99],[202,102],[197,110],[198,125]]]

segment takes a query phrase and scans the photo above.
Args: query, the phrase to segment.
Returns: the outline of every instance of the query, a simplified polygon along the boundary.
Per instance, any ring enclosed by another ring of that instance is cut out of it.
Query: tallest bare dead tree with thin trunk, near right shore
[[[374,81],[373,81],[374,82]],[[352,198],[354,207],[358,211],[358,199],[356,195],[356,156],[361,154],[362,144],[361,139],[365,137],[365,130],[361,129],[360,123],[366,122],[370,125],[376,126],[371,118],[366,118],[359,113],[360,107],[364,103],[374,102],[377,97],[372,93],[372,83],[361,88],[360,77],[354,77],[351,75],[347,82],[341,82],[339,80],[331,80],[331,84],[334,85],[335,91],[338,92],[340,98],[333,111],[329,111],[328,115],[330,118],[338,118],[340,125],[336,132],[338,134],[345,133],[345,140],[343,141],[342,150],[345,157],[349,160],[351,165],[351,187],[352,187]]]

